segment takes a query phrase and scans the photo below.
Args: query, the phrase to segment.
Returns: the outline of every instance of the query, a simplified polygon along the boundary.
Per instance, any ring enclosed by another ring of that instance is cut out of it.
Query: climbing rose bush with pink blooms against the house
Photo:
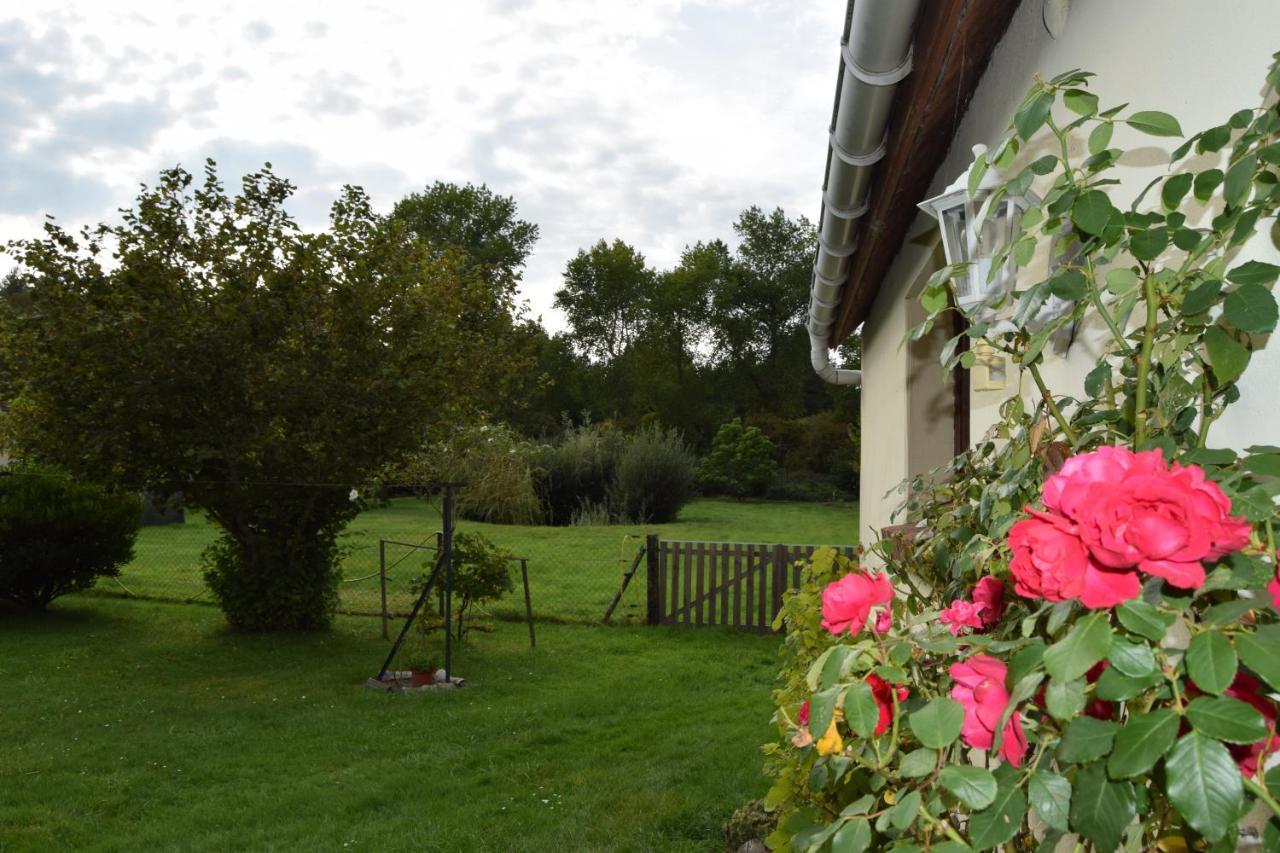
[[[1238,257],[1280,245],[1276,60],[1265,106],[1187,138],[1128,209],[1115,126],[1183,132],[1101,109],[1084,72],[1037,79],[977,160],[972,186],[1033,138],[1055,151],[996,191],[1038,181],[1043,201],[992,264],[1018,286],[965,313],[943,368],[972,366],[968,336],[1032,393],[908,484],[872,546],[883,573],[823,549],[786,597],[773,849],[1231,850],[1261,831],[1280,852],[1280,447],[1210,442],[1277,319],[1280,268]],[[950,323],[964,272],[929,280],[913,336]],[[1101,356],[1083,396],[1056,394],[1044,352],[1078,329]]]

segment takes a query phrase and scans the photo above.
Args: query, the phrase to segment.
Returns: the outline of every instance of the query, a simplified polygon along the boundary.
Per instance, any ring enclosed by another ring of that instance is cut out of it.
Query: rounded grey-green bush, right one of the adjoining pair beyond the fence
[[[609,488],[613,517],[627,524],[675,521],[692,497],[694,464],[676,430],[641,429],[618,460]]]

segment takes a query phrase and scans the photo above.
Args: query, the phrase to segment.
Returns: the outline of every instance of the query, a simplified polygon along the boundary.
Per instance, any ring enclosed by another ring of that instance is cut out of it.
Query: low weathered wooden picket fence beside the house
[[[746,542],[685,542],[650,535],[648,622],[773,630],[782,593],[800,585],[800,561],[819,547]],[[854,556],[854,546],[831,546]]]

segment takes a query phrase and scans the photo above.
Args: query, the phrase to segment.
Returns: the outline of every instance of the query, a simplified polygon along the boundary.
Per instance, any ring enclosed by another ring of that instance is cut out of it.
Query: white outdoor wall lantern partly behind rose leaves
[[[987,146],[973,146],[974,160],[987,152]],[[969,169],[964,170],[942,195],[920,202],[920,210],[938,220],[942,231],[942,248],[947,264],[968,264],[968,273],[954,279],[956,301],[963,309],[972,309],[989,297],[1011,289],[1015,265],[1012,254],[1000,269],[993,270],[995,257],[1005,246],[1018,238],[1023,214],[1037,199],[1005,196],[988,205],[992,192],[1005,181],[996,167],[982,175],[973,195],[969,195]]]

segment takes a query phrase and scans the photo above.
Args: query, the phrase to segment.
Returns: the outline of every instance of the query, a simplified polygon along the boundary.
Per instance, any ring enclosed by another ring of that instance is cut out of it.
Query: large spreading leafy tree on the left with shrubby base
[[[18,447],[180,491],[223,530],[206,578],[243,629],[325,626],[352,487],[503,375],[503,342],[460,321],[504,295],[358,188],[303,233],[292,191],[270,167],[234,196],[211,161],[170,169],[120,224],[9,247],[31,283],[3,345]]]

